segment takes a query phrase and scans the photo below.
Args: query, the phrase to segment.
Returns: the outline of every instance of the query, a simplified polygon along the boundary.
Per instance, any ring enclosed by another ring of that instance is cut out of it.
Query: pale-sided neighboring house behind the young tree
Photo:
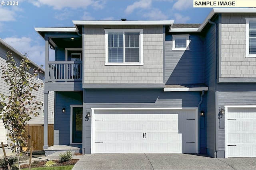
[[[4,40],[0,39],[0,65],[7,66],[6,63],[6,55],[7,51],[12,52],[12,57],[14,57],[14,60],[17,62],[17,64],[20,63],[22,59],[24,59],[24,55],[14,49],[12,46],[10,46],[8,43],[6,43]],[[33,61],[30,60],[31,63],[31,68],[39,68],[40,66]],[[0,71],[0,77],[2,76],[2,72]],[[43,73],[38,74],[36,78],[38,82],[43,82],[44,79],[44,70]],[[4,95],[9,95],[9,88],[10,86],[6,85],[6,82],[1,78],[0,79],[0,93]],[[42,88],[39,88],[37,92],[33,91],[32,95],[36,95],[36,99],[40,102],[44,102],[44,86]],[[2,99],[0,99],[2,101]],[[37,110],[39,115],[38,116],[33,116],[30,121],[28,121],[28,125],[43,125],[44,124],[44,106],[41,106],[41,110]],[[54,124],[54,92],[51,92],[49,95],[49,103],[48,103],[48,124]],[[32,132],[30,132],[32,133]],[[33,134],[30,134],[32,136]],[[34,132],[35,133],[35,132]],[[4,128],[3,122],[0,121],[0,142],[3,142],[4,144],[10,143],[10,140],[7,139],[6,137],[7,130]],[[37,139],[40,140],[40,139]],[[36,143],[39,143],[39,141],[34,141],[35,145]]]

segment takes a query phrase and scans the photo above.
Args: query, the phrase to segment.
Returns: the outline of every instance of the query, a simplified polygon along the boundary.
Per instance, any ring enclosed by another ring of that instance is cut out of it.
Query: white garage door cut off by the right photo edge
[[[228,157],[256,157],[256,108],[228,108]]]

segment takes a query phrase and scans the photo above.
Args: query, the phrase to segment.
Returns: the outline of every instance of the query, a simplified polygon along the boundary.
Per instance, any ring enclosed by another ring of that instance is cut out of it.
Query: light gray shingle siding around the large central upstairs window
[[[105,28],[143,29],[142,66],[105,66]],[[163,83],[163,26],[84,26],[85,84]]]

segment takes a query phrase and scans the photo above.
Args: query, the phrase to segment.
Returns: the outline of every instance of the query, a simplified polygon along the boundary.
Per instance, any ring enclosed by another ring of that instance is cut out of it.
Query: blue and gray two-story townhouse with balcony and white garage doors
[[[73,23],[35,28],[45,107],[55,92],[54,145],[256,157],[256,9],[213,9],[202,24]]]

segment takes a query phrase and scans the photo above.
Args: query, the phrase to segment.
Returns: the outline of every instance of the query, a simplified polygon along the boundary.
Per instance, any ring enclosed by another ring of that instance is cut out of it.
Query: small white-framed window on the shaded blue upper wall
[[[189,35],[172,35],[172,50],[189,50]]]

